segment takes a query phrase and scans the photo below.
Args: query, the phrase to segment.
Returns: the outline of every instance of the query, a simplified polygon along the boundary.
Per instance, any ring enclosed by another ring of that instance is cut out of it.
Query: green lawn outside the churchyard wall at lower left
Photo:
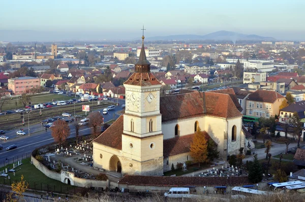
[[[29,188],[31,189],[38,189],[38,190],[49,190],[54,192],[73,192],[74,193],[74,186],[64,184],[60,181],[53,180],[45,176],[42,172],[36,169],[35,165],[31,164],[31,158],[26,158],[22,160],[22,165],[19,165],[15,172],[15,176],[13,173],[9,173],[11,180],[8,178],[1,177],[0,183],[10,185],[10,182],[19,181],[21,175],[23,175],[24,180],[28,183]],[[8,165],[10,169],[13,168],[13,165]],[[8,166],[2,167],[0,170],[5,170]]]

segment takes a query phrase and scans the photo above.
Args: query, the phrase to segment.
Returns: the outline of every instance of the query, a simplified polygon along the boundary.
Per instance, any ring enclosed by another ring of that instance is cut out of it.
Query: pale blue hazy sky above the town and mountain
[[[303,0],[3,1],[0,41],[133,40],[143,24],[146,38],[227,30],[305,40],[304,8]]]

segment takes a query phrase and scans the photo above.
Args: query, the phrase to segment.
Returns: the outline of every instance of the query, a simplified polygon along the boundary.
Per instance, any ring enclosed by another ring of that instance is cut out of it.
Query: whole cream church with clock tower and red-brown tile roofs
[[[135,72],[124,86],[125,113],[93,141],[94,167],[122,175],[162,176],[172,164],[176,168],[178,162],[193,160],[190,145],[198,128],[215,141],[221,159],[250,146],[251,135],[242,127],[242,108],[232,89],[181,90],[160,97],[162,84],[150,73],[144,36]]]

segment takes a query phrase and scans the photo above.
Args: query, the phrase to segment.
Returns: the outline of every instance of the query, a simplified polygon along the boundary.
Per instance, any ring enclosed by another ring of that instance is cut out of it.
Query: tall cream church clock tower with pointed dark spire
[[[124,83],[126,107],[122,134],[124,174],[163,175],[161,130],[161,83],[150,73],[144,49],[144,34],[135,72]],[[128,163],[128,164],[127,164]]]

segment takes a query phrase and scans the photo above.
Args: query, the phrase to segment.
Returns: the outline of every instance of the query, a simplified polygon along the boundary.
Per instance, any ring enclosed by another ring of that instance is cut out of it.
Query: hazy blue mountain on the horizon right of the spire
[[[150,37],[147,40],[230,40],[230,41],[237,41],[237,40],[249,40],[249,41],[276,41],[275,38],[272,37],[262,37],[258,35],[244,35],[242,33],[237,33],[233,31],[216,31],[212,33],[208,33],[207,35],[171,35],[165,37]]]

